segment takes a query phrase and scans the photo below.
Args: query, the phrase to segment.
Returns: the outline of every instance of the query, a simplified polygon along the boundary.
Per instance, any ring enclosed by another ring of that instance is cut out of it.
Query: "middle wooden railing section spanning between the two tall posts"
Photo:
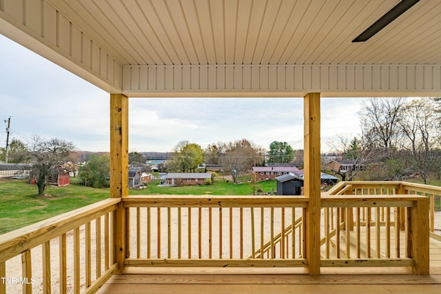
[[[296,219],[305,213],[307,201],[306,197],[125,197],[127,222],[136,224],[130,224],[127,234],[130,253],[125,266],[306,266],[305,226]],[[280,239],[280,232],[284,238]]]

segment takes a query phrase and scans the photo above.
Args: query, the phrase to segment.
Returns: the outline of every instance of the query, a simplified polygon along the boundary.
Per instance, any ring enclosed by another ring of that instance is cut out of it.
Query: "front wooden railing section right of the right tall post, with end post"
[[[320,266],[408,266],[429,273],[428,200],[418,195],[322,197]]]

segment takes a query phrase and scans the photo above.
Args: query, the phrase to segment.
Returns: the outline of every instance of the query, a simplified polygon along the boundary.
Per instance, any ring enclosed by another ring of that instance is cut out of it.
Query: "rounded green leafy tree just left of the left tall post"
[[[90,155],[88,162],[79,166],[78,176],[85,186],[105,188],[109,186],[110,157]]]

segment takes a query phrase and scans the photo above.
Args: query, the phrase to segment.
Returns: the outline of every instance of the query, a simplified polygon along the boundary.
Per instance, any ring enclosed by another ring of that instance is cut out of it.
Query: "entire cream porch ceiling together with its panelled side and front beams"
[[[108,92],[441,95],[441,2],[2,0],[0,32]]]

